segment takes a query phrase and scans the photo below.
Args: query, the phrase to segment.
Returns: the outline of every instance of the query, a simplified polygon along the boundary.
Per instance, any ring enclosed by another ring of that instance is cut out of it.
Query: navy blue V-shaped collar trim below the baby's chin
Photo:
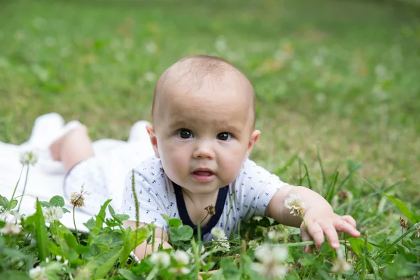
[[[172,182],[172,185],[174,185],[175,190],[175,197],[176,197],[176,204],[178,206],[179,216],[181,218],[181,221],[183,225],[189,225],[191,228],[194,229],[194,234],[197,235],[197,225],[191,221],[190,216],[188,215],[186,202],[183,199],[182,190],[181,187],[178,186],[176,183]],[[223,208],[225,207],[225,201],[226,197],[228,197],[228,190],[229,185],[224,186],[223,188],[220,188],[217,195],[216,200],[216,214],[211,216],[209,223],[202,228],[201,233],[202,237],[206,235],[207,233],[211,232],[211,229],[214,228],[219,221],[219,219],[222,216]]]

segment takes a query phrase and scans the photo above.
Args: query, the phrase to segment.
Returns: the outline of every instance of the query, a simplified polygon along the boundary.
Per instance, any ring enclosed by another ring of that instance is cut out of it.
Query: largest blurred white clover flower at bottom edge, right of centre
[[[255,258],[261,263],[253,263],[252,268],[265,279],[283,278],[288,271],[285,265],[287,256],[286,247],[264,244],[255,251]]]

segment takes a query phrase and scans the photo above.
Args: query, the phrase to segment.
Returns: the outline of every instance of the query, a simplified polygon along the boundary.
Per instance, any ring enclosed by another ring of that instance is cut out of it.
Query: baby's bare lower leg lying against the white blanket
[[[50,146],[53,160],[63,163],[66,172],[69,172],[74,165],[94,156],[92,140],[87,134],[84,125],[70,130]]]

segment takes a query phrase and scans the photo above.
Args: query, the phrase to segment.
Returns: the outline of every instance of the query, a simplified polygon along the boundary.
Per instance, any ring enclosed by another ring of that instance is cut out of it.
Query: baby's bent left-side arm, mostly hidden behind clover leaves
[[[146,225],[146,223],[139,223],[139,228],[143,228]],[[136,230],[136,222],[134,221],[125,221],[124,222],[125,228],[132,228],[132,230]],[[155,248],[152,251],[152,246],[150,244],[147,244],[146,241],[141,243],[139,246],[137,246],[134,253],[137,255],[137,258],[139,260],[142,260],[146,258],[151,253],[158,251],[158,248],[160,244],[162,244],[163,248],[172,248],[171,244],[168,243],[169,237],[165,230],[162,230],[162,228],[155,228]]]

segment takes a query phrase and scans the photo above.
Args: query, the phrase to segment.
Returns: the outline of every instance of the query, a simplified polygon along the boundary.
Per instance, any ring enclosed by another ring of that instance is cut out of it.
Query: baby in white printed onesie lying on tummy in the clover
[[[157,226],[154,250],[159,244],[171,247],[168,225],[161,214],[181,219],[195,232],[200,223],[204,241],[211,240],[211,229],[215,227],[224,229],[229,237],[231,232],[237,232],[239,221],[252,216],[269,216],[283,225],[300,227],[302,239],[313,239],[316,248],[325,236],[332,248],[338,248],[337,231],[360,235],[356,221],[335,214],[321,195],[283,183],[248,160],[260,137],[260,131],[255,130],[255,94],[246,76],[221,58],[197,55],[170,66],[155,86],[152,124],[146,125],[146,130],[155,157],[138,165],[136,158],[140,158],[141,149],[145,153],[148,150],[139,146],[119,156],[132,158],[122,163],[130,165],[130,169],[137,166],[134,183],[140,226]],[[95,159],[85,127],[71,130],[50,149],[52,158],[62,161],[69,172],[66,181],[81,182],[94,175],[96,179],[89,179],[98,182],[99,191],[94,195],[107,195],[100,180],[101,174],[106,174],[101,166],[119,164]],[[71,171],[73,167],[76,172]],[[132,174],[126,179],[122,210],[132,219],[125,226],[136,228]],[[289,195],[298,195],[305,204],[302,214],[306,226],[302,218],[293,216],[284,206]],[[208,206],[214,206],[214,215],[208,214]],[[136,255],[144,258],[151,251],[151,246],[144,243],[137,247]]]

